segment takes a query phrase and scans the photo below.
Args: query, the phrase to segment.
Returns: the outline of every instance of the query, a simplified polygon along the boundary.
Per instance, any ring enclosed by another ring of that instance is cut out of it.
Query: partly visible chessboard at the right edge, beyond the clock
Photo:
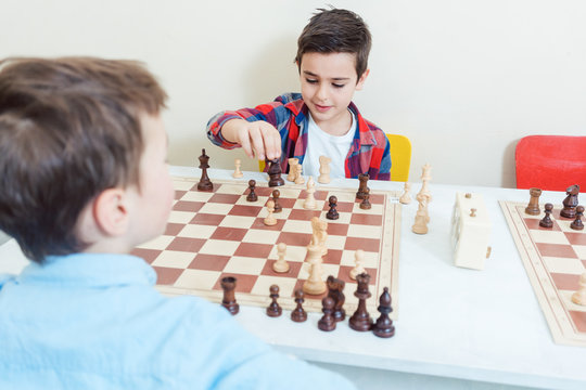
[[[530,216],[526,205],[500,202],[500,206],[553,340],[586,347],[586,307],[571,300],[586,271],[586,231],[571,229],[572,220],[560,217],[561,206],[551,213],[551,229],[539,226],[543,211]]]

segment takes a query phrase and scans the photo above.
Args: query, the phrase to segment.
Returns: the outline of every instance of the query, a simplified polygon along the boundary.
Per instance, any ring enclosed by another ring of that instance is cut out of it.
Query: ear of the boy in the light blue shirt
[[[103,234],[119,236],[126,233],[129,221],[126,196],[122,188],[107,188],[95,198],[93,218]]]

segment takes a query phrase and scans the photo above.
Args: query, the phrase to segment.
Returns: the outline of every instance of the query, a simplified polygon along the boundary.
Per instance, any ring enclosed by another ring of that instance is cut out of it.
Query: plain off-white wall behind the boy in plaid
[[[410,179],[514,186],[527,134],[586,133],[582,0],[2,0],[0,57],[97,55],[144,61],[167,89],[169,158],[231,168],[211,145],[224,108],[297,90],[296,38],[313,11],[358,12],[373,35],[362,114],[413,145]],[[247,161],[246,169],[255,169]]]

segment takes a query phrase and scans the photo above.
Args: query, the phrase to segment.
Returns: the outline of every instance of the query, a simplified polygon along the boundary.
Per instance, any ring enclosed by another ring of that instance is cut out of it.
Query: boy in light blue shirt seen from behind
[[[33,261],[0,276],[0,388],[352,388],[128,255],[173,205],[165,100],[135,62],[0,62],[0,230]]]

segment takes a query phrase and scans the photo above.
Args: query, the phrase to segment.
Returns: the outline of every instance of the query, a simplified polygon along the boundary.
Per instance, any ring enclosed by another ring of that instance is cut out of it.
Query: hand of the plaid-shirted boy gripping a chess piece
[[[264,120],[230,119],[221,127],[221,135],[226,141],[240,144],[251,158],[254,155],[259,160],[281,157],[281,134]]]

